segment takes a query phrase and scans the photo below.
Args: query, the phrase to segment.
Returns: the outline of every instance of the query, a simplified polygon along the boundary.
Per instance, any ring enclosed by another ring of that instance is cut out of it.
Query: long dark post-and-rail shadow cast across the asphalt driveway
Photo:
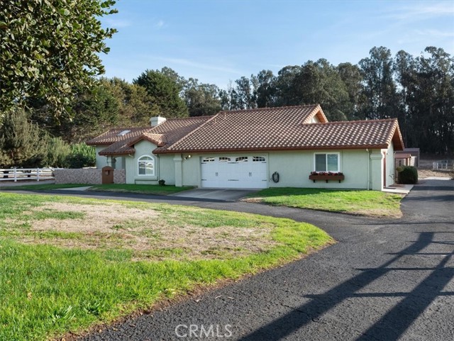
[[[454,232],[452,234],[454,236]],[[419,315],[438,296],[454,296],[454,292],[452,291],[443,292],[445,286],[454,278],[454,267],[446,267],[450,259],[453,258],[454,251],[450,250],[450,252],[446,253],[422,252],[433,243],[454,246],[454,241],[434,241],[435,235],[436,232],[420,233],[418,240],[395,254],[395,257],[382,264],[382,266],[372,269],[360,269],[360,274],[326,291],[324,294],[306,295],[305,297],[311,298],[309,303],[294,308],[287,315],[264,325],[262,328],[255,330],[240,340],[283,340],[304,325],[316,322],[316,320],[321,318],[321,315],[345,300],[351,298],[380,298],[390,296],[402,298],[402,301],[382,315],[380,320],[371,325],[365,332],[362,332],[362,335],[356,338],[356,340],[399,340],[411,323],[419,318]],[[443,259],[440,262],[435,262],[433,267],[402,267],[402,264],[399,264],[399,261],[403,257],[415,255],[443,256]],[[377,279],[380,279],[380,277],[385,276],[389,272],[421,271],[429,272],[428,276],[409,292],[358,293],[358,291],[361,291],[361,289],[364,289],[373,281],[377,281]]]

